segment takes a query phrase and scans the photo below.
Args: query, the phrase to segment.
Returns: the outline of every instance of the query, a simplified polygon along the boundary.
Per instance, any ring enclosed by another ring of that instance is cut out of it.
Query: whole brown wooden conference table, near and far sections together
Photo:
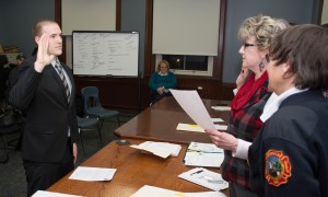
[[[212,118],[220,117],[227,121],[229,112],[211,109],[211,106],[218,105],[220,102],[203,100],[203,103]],[[73,181],[68,178],[70,173],[47,190],[87,197],[126,197],[136,193],[143,185],[183,193],[210,190],[177,177],[180,173],[194,169],[183,163],[187,143],[190,141],[211,142],[208,135],[203,132],[177,131],[178,123],[195,124],[175,99],[169,96],[150,106],[115,130],[117,136],[133,144],[147,140],[180,143],[183,148],[178,157],[169,157],[164,160],[113,141],[81,164],[81,166],[117,169],[110,182]],[[220,172],[220,169],[210,170]],[[229,196],[227,189],[223,193]]]

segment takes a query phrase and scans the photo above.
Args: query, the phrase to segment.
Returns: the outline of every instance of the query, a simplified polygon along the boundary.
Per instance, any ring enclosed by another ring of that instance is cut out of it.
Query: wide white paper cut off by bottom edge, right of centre
[[[226,197],[220,192],[180,193],[161,187],[144,185],[130,197]]]

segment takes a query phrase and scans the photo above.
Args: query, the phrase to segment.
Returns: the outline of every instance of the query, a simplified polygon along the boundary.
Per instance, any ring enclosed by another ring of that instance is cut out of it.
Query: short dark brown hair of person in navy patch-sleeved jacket
[[[269,48],[274,66],[289,62],[298,89],[328,89],[328,28],[303,24],[283,30]]]

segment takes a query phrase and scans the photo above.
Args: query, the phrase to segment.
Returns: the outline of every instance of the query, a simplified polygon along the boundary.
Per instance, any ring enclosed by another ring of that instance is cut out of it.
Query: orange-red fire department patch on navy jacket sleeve
[[[292,164],[282,151],[269,150],[266,153],[266,179],[270,185],[280,186],[292,176]]]

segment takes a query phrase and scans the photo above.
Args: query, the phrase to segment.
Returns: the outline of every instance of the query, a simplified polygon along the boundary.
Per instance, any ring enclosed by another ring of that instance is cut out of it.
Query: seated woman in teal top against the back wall
[[[148,85],[151,90],[151,104],[160,101],[165,95],[171,95],[168,89],[176,86],[176,78],[174,73],[169,71],[169,63],[166,60],[159,62],[157,72],[151,76]]]

